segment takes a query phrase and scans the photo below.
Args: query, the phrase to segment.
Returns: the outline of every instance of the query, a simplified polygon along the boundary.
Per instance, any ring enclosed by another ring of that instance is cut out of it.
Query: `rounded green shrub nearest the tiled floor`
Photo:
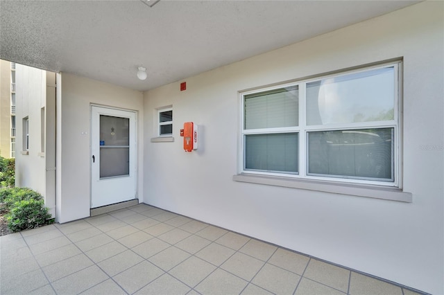
[[[6,215],[6,220],[8,220],[8,229],[13,232],[34,229],[53,222],[42,199],[24,199],[15,202]]]

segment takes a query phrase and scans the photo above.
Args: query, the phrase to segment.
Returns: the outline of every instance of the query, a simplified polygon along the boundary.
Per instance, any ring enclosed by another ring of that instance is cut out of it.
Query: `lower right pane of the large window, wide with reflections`
[[[393,128],[308,134],[308,175],[394,180]]]

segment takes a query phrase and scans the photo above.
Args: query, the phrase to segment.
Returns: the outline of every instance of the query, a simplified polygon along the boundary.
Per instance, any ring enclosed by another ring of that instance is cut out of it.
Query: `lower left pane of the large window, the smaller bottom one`
[[[245,169],[298,173],[298,134],[246,135]]]

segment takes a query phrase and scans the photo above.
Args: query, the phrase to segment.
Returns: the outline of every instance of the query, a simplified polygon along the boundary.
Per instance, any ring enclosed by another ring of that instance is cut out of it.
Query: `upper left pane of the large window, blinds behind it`
[[[245,96],[245,129],[298,126],[298,87]]]

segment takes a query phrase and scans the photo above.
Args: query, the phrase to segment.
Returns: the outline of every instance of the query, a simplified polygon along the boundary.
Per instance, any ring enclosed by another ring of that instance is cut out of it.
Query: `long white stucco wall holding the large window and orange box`
[[[186,91],[179,82],[146,91],[144,202],[443,294],[443,6],[419,3],[223,66],[183,80]],[[398,57],[404,59],[403,181],[412,203],[232,180],[238,91]],[[151,143],[155,109],[167,105],[173,105],[175,141]],[[200,126],[196,152],[182,150],[186,121]]]

